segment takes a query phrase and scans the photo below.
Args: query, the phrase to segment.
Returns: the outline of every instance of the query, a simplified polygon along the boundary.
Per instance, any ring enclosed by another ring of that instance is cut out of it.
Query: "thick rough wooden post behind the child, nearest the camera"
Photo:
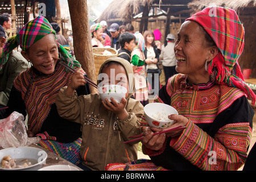
[[[97,82],[93,59],[92,37],[88,19],[87,0],[68,0],[69,13],[73,31],[74,53],[82,69],[93,82]],[[97,89],[90,85],[91,93]]]

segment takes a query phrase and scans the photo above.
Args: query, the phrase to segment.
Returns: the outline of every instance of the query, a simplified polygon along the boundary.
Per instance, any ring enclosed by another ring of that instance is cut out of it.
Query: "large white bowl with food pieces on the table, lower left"
[[[6,169],[2,168],[2,159],[4,156],[10,155],[11,158],[17,159],[28,159],[32,163],[31,166],[22,168]],[[30,160],[31,159],[31,160]],[[0,150],[0,170],[7,171],[37,171],[43,164],[46,163],[47,153],[46,151],[36,147],[10,147]]]

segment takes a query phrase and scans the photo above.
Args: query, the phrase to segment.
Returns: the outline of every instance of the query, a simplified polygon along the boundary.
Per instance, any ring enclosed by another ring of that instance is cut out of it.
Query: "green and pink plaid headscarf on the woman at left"
[[[14,48],[20,46],[22,51],[26,51],[35,42],[42,39],[48,34],[55,35],[51,24],[48,22],[44,16],[38,16],[37,18],[26,23],[24,27],[18,32],[17,35],[11,37],[7,40],[5,46],[3,47],[2,59],[0,60],[0,70],[3,65],[7,62],[9,58],[9,53],[13,51]],[[56,35],[55,35],[56,39]],[[63,46],[58,44],[60,55],[62,60],[67,63],[72,68],[79,68],[81,64],[79,61],[73,59],[73,57],[65,50]]]

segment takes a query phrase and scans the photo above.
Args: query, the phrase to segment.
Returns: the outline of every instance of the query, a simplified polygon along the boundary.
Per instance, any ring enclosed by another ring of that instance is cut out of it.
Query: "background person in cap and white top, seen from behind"
[[[159,59],[163,60],[163,69],[164,76],[166,77],[166,82],[168,78],[177,74],[175,69],[176,67],[176,57],[174,53],[174,34],[168,34],[166,40],[164,41],[164,45],[162,46],[162,51],[160,53]]]

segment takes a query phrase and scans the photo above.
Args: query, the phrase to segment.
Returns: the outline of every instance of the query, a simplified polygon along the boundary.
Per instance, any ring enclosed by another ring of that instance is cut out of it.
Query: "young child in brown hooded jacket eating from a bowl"
[[[77,97],[75,89],[85,84],[80,72],[74,73],[69,85],[61,88],[56,98],[60,116],[82,125],[82,166],[79,167],[88,170],[104,170],[109,163],[136,160],[138,142],[123,142],[141,134],[140,121],[144,114],[142,104],[130,98],[134,92],[134,78],[128,61],[112,57],[102,64],[99,73],[108,75],[108,79],[98,81],[99,85],[114,83],[126,87],[128,94],[120,104],[113,98],[112,102],[101,101],[98,93]],[[121,74],[123,76],[119,77]]]

